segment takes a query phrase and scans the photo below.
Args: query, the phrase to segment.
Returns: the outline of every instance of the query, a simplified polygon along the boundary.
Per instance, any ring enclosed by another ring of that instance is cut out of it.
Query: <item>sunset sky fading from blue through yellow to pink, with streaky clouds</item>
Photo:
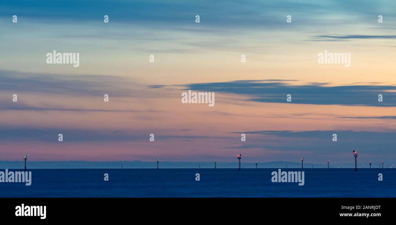
[[[2,2],[0,161],[242,154],[246,163],[345,164],[356,150],[362,163],[395,163],[395,8],[392,0]],[[79,53],[80,65],[47,64],[54,50]],[[319,64],[325,51],[350,53],[350,67]],[[183,104],[188,90],[215,93],[215,106]]]

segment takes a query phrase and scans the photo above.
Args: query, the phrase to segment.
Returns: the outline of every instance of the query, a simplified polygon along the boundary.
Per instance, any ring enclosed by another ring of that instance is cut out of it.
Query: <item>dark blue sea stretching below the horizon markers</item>
[[[282,171],[297,171],[289,168]],[[4,171],[4,170],[1,170]],[[15,171],[15,170],[9,170]],[[272,183],[278,169],[35,169],[32,185],[0,197],[396,197],[396,169],[305,169],[305,185]],[[103,174],[109,174],[104,181]],[[200,181],[195,174],[200,174]],[[383,174],[383,181],[378,174]]]

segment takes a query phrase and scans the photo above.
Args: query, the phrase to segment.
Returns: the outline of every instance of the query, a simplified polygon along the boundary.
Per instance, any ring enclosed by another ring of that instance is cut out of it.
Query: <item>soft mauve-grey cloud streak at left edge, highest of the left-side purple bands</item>
[[[139,86],[119,76],[26,73],[0,70],[0,91],[59,95],[136,96]]]

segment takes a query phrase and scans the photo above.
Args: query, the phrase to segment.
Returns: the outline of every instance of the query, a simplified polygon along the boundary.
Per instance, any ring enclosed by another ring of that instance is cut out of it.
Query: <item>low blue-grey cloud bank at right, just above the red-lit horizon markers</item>
[[[260,138],[257,139],[250,136],[249,140],[254,142],[253,144],[228,146],[224,147],[225,149],[263,149],[268,151],[312,153],[320,151],[331,154],[352,153],[352,150],[372,153],[373,149],[375,149],[375,153],[394,154],[393,149],[396,145],[396,130],[383,132],[356,130],[257,130],[232,133],[259,135]],[[333,134],[337,134],[337,142],[332,141]],[[274,137],[277,138],[275,142]]]

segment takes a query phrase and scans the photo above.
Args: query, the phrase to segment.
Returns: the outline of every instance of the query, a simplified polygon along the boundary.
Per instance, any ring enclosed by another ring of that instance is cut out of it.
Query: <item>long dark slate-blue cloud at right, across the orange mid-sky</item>
[[[327,86],[327,83],[298,85],[289,80],[247,80],[180,86],[186,90],[244,95],[248,97],[247,101],[254,102],[396,107],[396,86],[393,85]],[[292,96],[291,102],[286,102],[288,94]],[[383,102],[378,102],[379,94],[383,95]]]

